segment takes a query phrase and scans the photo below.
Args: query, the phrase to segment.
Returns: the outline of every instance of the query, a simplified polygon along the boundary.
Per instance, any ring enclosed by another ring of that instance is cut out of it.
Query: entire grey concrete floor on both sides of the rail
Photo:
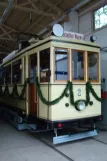
[[[39,137],[52,144],[51,133],[41,134]],[[55,148],[71,158],[71,161],[107,161],[107,132],[100,132],[95,139],[79,140]],[[0,161],[67,161],[69,158],[36,137],[0,122]]]

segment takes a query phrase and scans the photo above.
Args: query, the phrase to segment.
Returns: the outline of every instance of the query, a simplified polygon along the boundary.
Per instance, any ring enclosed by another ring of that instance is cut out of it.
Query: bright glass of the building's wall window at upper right
[[[107,5],[94,12],[94,28],[99,29],[107,25]]]

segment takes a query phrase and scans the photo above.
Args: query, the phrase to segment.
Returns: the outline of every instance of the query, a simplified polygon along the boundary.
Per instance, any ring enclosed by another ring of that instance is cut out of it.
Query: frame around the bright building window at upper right
[[[107,6],[107,4],[105,3],[104,5],[101,5],[100,7],[98,7],[98,8],[96,8],[94,11],[93,11],[93,16],[92,16],[92,19],[93,19],[93,31],[95,32],[95,31],[99,31],[99,30],[101,30],[101,29],[103,29],[103,28],[107,28],[107,24],[106,25],[104,25],[104,26],[102,26],[102,27],[100,27],[100,28],[97,28],[97,29],[95,29],[95,12],[96,11],[98,11],[99,9],[101,9],[101,8],[104,8],[105,6]]]

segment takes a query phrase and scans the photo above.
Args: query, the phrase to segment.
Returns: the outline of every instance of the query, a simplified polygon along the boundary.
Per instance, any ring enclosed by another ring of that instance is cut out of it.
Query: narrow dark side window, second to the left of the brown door
[[[11,84],[11,65],[5,67],[5,83]]]

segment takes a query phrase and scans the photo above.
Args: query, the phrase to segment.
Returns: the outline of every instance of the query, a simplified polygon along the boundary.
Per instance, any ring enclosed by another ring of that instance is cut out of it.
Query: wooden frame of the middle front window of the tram
[[[72,51],[80,51],[80,52],[83,52],[83,55],[84,55],[84,80],[74,80],[73,77],[71,77],[71,80],[72,82],[75,82],[75,83],[84,83],[86,82],[86,64],[87,64],[87,55],[86,55],[86,52],[84,50],[78,50],[78,49],[71,49],[71,69],[72,69]],[[71,70],[72,72],[72,70]],[[72,75],[72,73],[71,73]]]

